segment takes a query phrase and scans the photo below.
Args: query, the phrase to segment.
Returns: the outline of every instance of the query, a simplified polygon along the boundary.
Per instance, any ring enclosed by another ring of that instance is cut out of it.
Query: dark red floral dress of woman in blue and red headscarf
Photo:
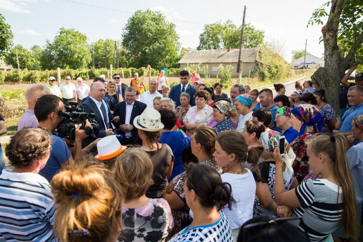
[[[292,167],[295,172],[296,179],[300,184],[301,181],[309,174],[309,157],[307,155],[307,145],[305,144],[305,140],[309,139],[315,132],[306,132],[305,134],[298,136],[291,144],[291,149],[296,155],[295,161],[297,161],[296,165]]]

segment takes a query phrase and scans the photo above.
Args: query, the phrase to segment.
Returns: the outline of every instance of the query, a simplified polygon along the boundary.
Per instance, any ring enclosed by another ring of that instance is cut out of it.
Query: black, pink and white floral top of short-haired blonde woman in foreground
[[[165,241],[173,225],[166,200],[150,199],[140,208],[122,208],[122,231],[118,241]]]

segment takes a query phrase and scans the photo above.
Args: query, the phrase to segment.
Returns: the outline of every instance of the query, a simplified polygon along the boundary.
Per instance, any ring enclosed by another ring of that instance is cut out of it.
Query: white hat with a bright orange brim
[[[98,141],[98,154],[95,156],[95,158],[97,160],[108,160],[115,157],[116,155],[121,154],[126,149],[127,146],[120,145],[115,135],[106,136]]]

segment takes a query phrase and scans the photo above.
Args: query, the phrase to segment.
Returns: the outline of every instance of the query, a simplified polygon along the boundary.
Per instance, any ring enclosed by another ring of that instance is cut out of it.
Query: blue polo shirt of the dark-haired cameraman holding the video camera
[[[72,153],[68,149],[67,143],[62,138],[53,135],[48,161],[44,168],[39,171],[39,175],[50,183],[53,176],[61,170],[61,164],[67,162],[71,157]]]

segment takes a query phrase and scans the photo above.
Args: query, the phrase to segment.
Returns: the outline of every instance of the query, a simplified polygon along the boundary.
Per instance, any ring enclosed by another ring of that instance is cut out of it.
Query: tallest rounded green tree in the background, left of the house
[[[176,66],[179,37],[175,24],[166,21],[160,12],[136,11],[126,23],[122,35],[130,66]]]

